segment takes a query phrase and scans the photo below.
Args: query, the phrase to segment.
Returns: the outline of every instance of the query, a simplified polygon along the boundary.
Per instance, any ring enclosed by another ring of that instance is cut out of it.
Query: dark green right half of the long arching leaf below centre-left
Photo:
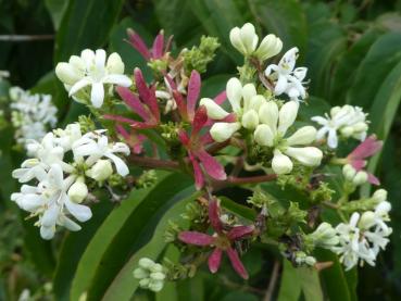
[[[188,175],[171,174],[153,187],[146,199],[135,210],[131,210],[129,215],[125,215],[124,224],[113,235],[109,235],[110,242],[106,243],[108,248],[101,256],[101,264],[95,266],[96,275],[90,281],[87,300],[99,300],[103,296],[129,256],[151,239],[161,216],[175,202],[193,191],[192,183],[192,178]],[[186,189],[188,187],[190,188]],[[135,199],[131,200],[130,204],[135,205]],[[123,218],[121,212],[118,211],[117,216],[109,221],[115,223],[116,218]],[[106,230],[108,227],[111,226],[105,225],[102,230]],[[100,240],[98,239],[98,243],[104,243]],[[97,250],[93,251],[97,252]]]

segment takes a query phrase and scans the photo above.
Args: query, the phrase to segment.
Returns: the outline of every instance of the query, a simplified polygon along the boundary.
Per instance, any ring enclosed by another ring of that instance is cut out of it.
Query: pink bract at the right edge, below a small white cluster
[[[377,153],[383,147],[383,141],[377,140],[375,135],[367,137],[362,143],[360,143],[348,156],[347,162],[352,165],[356,171],[363,171],[366,166],[367,158]],[[380,181],[373,174],[367,173],[367,180],[374,185],[380,185]]]

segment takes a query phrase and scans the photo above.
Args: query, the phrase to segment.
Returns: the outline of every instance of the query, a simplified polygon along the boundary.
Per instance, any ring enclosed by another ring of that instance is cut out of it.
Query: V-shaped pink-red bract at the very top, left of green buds
[[[167,42],[164,45],[164,32],[160,30],[159,35],[154,38],[153,46],[151,49],[145,43],[143,39],[135,33],[133,29],[127,30],[128,42],[143,57],[145,60],[159,60],[168,52],[172,36],[168,38]]]

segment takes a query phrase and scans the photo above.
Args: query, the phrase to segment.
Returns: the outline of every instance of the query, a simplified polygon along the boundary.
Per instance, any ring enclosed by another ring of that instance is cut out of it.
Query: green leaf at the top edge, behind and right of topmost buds
[[[251,12],[268,34],[273,33],[284,42],[284,49],[298,47],[303,53],[306,47],[306,18],[297,0],[249,1]],[[260,37],[261,39],[263,37]]]

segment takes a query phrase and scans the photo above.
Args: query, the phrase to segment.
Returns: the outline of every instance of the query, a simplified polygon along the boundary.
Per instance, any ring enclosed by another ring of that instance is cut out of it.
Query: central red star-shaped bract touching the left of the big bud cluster
[[[213,142],[209,133],[201,135],[200,130],[208,122],[206,109],[201,105],[195,113],[192,121],[192,130],[190,136],[184,130],[178,131],[178,138],[183,142],[188,152],[188,158],[193,166],[195,186],[197,189],[203,187],[204,177],[201,165],[204,172],[212,178],[224,180],[227,175],[224,172],[224,167],[205,151],[205,146]]]

